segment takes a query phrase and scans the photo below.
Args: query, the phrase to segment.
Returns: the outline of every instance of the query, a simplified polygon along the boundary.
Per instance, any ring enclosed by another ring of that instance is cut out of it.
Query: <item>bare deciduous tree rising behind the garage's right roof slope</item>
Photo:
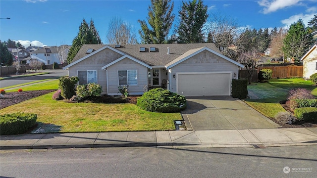
[[[214,43],[223,55],[236,60],[237,46],[241,39],[241,30],[237,21],[220,12],[211,13],[207,30],[208,42]]]

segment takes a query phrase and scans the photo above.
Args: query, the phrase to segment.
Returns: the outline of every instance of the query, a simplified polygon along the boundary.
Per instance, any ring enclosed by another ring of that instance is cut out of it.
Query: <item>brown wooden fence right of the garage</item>
[[[254,71],[252,82],[258,81],[258,73],[262,69],[271,69],[273,71],[272,78],[291,78],[291,77],[303,77],[303,66],[264,66],[258,67]],[[246,69],[239,70],[239,79],[247,79],[248,72]]]

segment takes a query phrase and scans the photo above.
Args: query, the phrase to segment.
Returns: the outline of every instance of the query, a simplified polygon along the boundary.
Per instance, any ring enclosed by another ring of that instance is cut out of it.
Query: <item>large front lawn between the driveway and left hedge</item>
[[[38,114],[38,122],[60,127],[62,133],[175,130],[180,113],[154,113],[134,104],[67,103],[45,94],[0,110],[1,114]]]

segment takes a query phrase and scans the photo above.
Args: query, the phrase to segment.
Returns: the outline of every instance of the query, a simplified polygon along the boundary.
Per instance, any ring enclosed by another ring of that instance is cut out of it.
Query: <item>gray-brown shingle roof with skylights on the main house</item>
[[[88,54],[86,54],[87,49],[92,48],[98,50],[106,45],[83,45],[73,61],[76,61]],[[115,48],[115,45],[108,45]],[[179,56],[186,55],[185,53],[190,52],[190,50],[197,50],[197,48],[208,47],[215,52],[220,53],[219,49],[211,43],[201,43],[201,44],[141,44],[141,45],[121,45],[121,47],[116,47],[115,49],[124,52],[136,59],[144,61],[150,65],[164,66],[167,63],[173,61]],[[145,52],[140,52],[140,47],[145,47]],[[156,51],[151,52],[150,47],[155,47]],[[167,54],[167,47],[169,48],[169,54]],[[192,53],[192,52],[190,52]]]

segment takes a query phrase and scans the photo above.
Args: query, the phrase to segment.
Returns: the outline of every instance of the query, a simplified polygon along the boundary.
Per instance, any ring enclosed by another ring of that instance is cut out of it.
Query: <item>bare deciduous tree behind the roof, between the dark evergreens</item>
[[[113,45],[137,44],[134,28],[118,17],[112,17],[110,20],[106,38],[108,44]]]

